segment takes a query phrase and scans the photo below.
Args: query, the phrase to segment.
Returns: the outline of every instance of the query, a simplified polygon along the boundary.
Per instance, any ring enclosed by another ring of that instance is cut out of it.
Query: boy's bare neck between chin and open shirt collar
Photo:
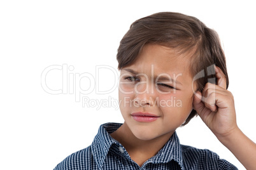
[[[139,140],[124,122],[117,131],[110,135],[125,147],[132,160],[139,166],[142,166],[146,160],[153,157],[164,147],[173,133],[174,132],[163,134],[152,140]]]

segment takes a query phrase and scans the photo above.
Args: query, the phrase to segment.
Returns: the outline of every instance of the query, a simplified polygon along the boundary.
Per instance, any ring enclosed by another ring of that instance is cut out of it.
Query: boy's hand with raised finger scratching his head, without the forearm
[[[225,75],[215,67],[217,85],[208,82],[194,95],[193,108],[217,138],[225,137],[237,129],[234,97],[226,89]]]

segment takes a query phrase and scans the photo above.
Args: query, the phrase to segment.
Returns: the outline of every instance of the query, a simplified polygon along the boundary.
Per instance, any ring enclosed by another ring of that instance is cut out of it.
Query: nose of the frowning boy
[[[135,98],[134,104],[139,105],[141,107],[153,106],[154,100],[154,87],[151,83],[141,83],[134,88]]]

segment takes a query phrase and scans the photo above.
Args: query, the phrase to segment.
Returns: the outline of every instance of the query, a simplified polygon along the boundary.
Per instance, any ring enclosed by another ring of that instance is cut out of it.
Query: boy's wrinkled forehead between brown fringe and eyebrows
[[[157,44],[146,44],[138,58],[131,65],[121,69],[121,74],[144,74],[151,79],[171,77],[174,81],[189,85],[192,83],[192,77],[187,63],[188,57],[178,55],[171,48]]]

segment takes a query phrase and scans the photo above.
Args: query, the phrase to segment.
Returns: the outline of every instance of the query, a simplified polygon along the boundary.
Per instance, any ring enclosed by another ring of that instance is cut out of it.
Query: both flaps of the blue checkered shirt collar
[[[118,123],[106,123],[102,124],[99,127],[98,133],[96,134],[94,141],[92,142],[92,155],[96,161],[99,169],[103,166],[104,160],[110,150],[111,145],[114,143],[121,145],[117,140],[113,139],[110,136],[110,133],[117,130],[122,124]],[[166,145],[155,155],[152,159],[147,160],[153,164],[167,163],[171,160],[174,160],[179,164],[181,169],[183,168],[182,154],[180,140],[176,132],[173,133],[173,136],[167,141]]]

